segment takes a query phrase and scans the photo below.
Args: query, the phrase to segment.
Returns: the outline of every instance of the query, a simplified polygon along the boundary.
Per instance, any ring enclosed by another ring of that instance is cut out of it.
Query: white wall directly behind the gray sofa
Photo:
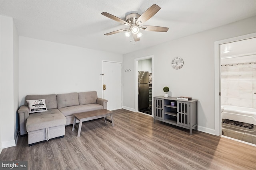
[[[20,105],[28,94],[96,90],[102,97],[102,60],[122,62],[122,55],[20,37]]]

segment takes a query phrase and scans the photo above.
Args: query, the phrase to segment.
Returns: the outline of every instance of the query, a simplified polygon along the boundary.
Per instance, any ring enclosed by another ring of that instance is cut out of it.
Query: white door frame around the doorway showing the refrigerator
[[[134,81],[134,96],[135,96],[135,111],[138,112],[139,111],[139,106],[138,106],[138,61],[140,60],[146,60],[146,59],[151,59],[151,69],[152,69],[152,98],[154,96],[154,55],[149,55],[149,56],[146,56],[146,57],[140,57],[140,58],[137,58],[137,59],[134,59],[134,78],[135,78],[135,81]],[[154,100],[152,100],[152,107],[154,106]],[[154,117],[154,109],[152,109],[152,112],[151,112],[151,116]],[[146,113],[145,113],[146,114]],[[146,114],[148,115],[148,114]]]

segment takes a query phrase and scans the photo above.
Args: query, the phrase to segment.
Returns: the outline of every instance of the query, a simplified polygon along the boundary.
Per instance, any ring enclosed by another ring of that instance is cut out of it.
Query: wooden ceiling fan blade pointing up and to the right
[[[161,8],[154,4],[150,6],[139,18],[136,20],[137,25],[141,25],[142,23],[148,21],[152,16],[154,16]]]

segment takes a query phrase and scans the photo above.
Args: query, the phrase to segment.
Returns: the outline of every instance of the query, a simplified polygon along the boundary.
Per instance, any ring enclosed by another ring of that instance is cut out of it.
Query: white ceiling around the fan
[[[142,31],[135,44],[124,33],[104,35],[127,26],[102,12],[125,20],[152,4],[161,10],[143,25],[168,32]],[[0,0],[0,15],[14,18],[20,36],[126,54],[256,16],[256,0]]]

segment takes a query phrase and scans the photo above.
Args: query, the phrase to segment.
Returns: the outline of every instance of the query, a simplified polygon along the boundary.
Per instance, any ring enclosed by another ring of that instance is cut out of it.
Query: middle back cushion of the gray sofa
[[[57,94],[58,108],[79,105],[78,93]]]

